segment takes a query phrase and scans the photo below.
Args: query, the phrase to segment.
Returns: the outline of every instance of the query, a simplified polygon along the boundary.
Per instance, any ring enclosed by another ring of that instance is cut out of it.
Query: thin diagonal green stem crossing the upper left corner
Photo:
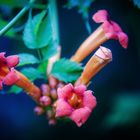
[[[35,0],[30,0],[29,4],[25,6],[3,29],[0,30],[0,36],[6,34],[9,29],[15,25],[15,23],[28,11],[33,2],[35,2]]]

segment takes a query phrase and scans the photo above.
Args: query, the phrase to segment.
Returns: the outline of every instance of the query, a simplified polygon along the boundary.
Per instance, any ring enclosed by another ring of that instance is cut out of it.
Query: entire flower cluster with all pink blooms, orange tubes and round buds
[[[59,47],[59,53],[48,61],[46,70],[48,84],[42,84],[40,88],[14,69],[19,62],[17,55],[5,57],[5,53],[0,53],[0,89],[2,89],[3,84],[16,84],[23,88],[38,104],[34,112],[37,115],[45,113],[49,124],[56,124],[58,118],[66,117],[74,121],[78,127],[82,126],[97,104],[93,92],[87,90],[88,84],[93,76],[112,61],[111,50],[101,45],[109,39],[118,40],[124,48],[127,48],[128,45],[127,35],[116,22],[109,19],[106,10],[95,13],[93,20],[96,23],[102,23],[101,26],[82,43],[71,60],[79,63],[99,48],[73,84],[59,81],[50,74],[52,65],[60,57]]]

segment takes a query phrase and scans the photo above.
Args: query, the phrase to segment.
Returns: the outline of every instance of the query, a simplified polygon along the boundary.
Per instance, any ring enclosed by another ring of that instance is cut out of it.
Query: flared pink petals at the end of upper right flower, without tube
[[[108,39],[119,40],[120,44],[127,48],[128,36],[116,22],[109,19],[109,14],[106,10],[99,10],[92,18],[96,23],[103,23],[102,27]]]

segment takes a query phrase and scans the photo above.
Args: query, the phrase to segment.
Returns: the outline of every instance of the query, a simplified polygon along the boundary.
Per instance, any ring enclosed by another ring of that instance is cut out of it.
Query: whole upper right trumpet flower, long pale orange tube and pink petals
[[[102,23],[79,47],[71,60],[81,62],[97,47],[109,39],[115,39],[120,42],[123,48],[128,46],[128,36],[122,31],[121,27],[110,20],[106,10],[99,10],[93,15],[96,23]]]

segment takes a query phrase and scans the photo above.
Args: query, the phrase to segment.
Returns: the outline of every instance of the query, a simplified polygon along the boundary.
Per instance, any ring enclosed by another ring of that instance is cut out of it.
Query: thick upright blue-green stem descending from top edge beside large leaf
[[[51,19],[51,26],[53,32],[53,41],[59,45],[59,29],[58,29],[58,14],[57,14],[57,3],[56,0],[48,0],[49,1],[49,16]]]

